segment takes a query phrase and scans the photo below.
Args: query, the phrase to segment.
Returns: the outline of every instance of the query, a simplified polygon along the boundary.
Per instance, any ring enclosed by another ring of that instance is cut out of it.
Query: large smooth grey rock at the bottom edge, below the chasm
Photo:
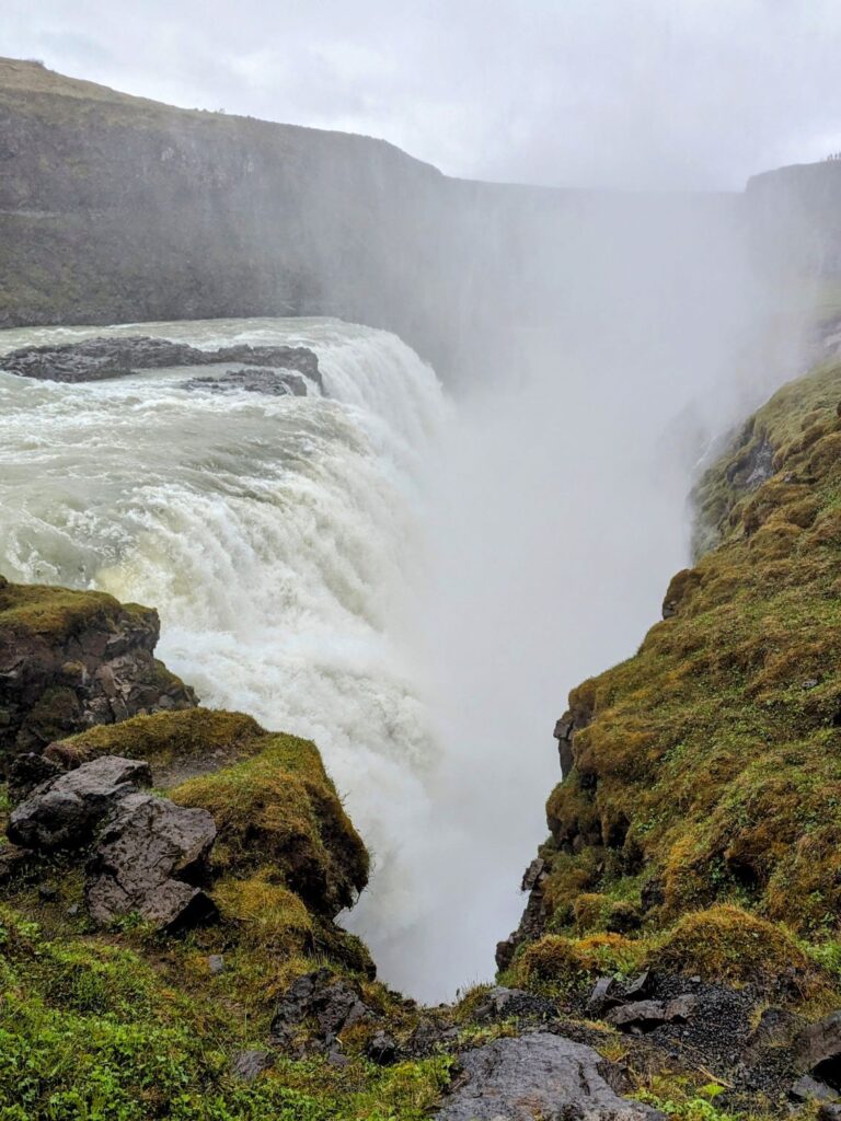
[[[563,1036],[535,1032],[461,1056],[461,1077],[438,1121],[654,1121],[662,1114],[619,1097],[602,1077],[601,1057]]]

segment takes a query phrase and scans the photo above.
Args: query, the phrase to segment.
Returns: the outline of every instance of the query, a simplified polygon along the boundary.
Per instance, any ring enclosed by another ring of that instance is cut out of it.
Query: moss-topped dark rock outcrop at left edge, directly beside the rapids
[[[193,707],[154,657],[159,632],[148,608],[0,576],[0,766],[93,724]]]

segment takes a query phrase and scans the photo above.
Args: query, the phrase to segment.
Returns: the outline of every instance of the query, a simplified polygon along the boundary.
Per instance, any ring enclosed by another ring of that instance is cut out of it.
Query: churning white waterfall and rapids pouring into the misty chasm
[[[396,336],[332,321],[142,333],[309,346],[326,396],[187,391],[183,370],[74,386],[0,373],[2,569],[156,605],[160,656],[205,704],[317,741],[375,854],[349,921],[406,982],[397,916],[410,924],[425,895],[412,839],[433,831],[436,748],[401,636],[422,464],[446,415],[437,379]],[[6,332],[0,346],[117,334],[138,330]]]

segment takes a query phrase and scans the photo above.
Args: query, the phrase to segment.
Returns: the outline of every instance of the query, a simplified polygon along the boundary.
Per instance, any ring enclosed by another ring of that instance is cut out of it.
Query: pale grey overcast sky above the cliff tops
[[[0,54],[451,175],[741,187],[841,149],[840,0],[1,0]]]

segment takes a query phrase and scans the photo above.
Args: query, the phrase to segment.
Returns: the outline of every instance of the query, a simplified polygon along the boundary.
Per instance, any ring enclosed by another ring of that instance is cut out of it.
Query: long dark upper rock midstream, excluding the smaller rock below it
[[[87,339],[61,346],[28,346],[6,354],[1,368],[24,378],[48,381],[100,381],[137,370],[214,365],[241,362],[244,365],[295,370],[321,388],[318,359],[305,346],[222,346],[204,351],[165,339]],[[266,372],[266,371],[262,371]],[[301,379],[298,379],[301,380]]]

